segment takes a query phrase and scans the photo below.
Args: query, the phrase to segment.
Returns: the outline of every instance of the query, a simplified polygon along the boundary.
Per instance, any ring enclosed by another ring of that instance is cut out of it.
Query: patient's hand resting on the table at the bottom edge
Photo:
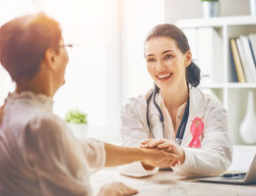
[[[98,193],[98,196],[125,196],[135,195],[138,190],[125,185],[122,182],[112,182],[104,184]]]

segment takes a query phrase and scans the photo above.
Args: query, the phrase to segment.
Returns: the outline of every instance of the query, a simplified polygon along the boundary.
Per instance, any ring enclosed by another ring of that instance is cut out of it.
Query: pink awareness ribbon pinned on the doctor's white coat
[[[204,131],[204,123],[200,118],[195,118],[190,126],[190,132],[193,136],[191,142],[189,143],[190,148],[200,148],[201,147],[201,141],[200,141],[200,135]]]

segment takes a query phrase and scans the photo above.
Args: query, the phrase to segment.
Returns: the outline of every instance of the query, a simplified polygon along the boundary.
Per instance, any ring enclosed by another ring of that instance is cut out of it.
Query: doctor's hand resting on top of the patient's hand
[[[176,145],[174,142],[167,139],[147,139],[142,142],[142,148],[158,148],[169,153],[174,153],[180,164],[182,165],[185,161],[184,150]]]

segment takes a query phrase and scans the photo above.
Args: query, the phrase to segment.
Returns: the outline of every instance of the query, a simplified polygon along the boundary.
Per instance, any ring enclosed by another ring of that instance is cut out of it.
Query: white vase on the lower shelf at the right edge
[[[246,115],[240,125],[240,135],[245,143],[256,143],[256,116],[254,111],[254,98],[252,90],[250,90],[248,93]]]

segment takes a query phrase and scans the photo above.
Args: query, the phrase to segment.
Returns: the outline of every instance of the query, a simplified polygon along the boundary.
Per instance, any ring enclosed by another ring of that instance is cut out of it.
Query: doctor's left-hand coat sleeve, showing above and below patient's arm
[[[140,101],[141,100],[137,98],[132,98],[130,102],[122,108],[120,134],[124,146],[140,147],[144,140],[150,138],[147,126],[142,122],[142,118],[139,114],[144,114],[143,109],[140,107]],[[147,176],[158,171],[158,168],[155,168],[153,171],[145,170],[141,162],[119,167],[121,174],[130,176]]]

